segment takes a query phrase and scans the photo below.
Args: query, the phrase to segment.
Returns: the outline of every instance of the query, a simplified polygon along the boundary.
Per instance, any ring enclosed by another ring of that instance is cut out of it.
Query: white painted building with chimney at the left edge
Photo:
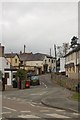
[[[11,70],[10,62],[4,56],[4,46],[0,44],[0,71],[7,80],[7,85],[12,85],[13,74],[16,72]]]

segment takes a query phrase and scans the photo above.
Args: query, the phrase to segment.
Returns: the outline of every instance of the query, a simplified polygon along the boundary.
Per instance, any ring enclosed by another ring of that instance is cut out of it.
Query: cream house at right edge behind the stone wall
[[[69,78],[80,80],[80,45],[65,55],[65,70]]]

